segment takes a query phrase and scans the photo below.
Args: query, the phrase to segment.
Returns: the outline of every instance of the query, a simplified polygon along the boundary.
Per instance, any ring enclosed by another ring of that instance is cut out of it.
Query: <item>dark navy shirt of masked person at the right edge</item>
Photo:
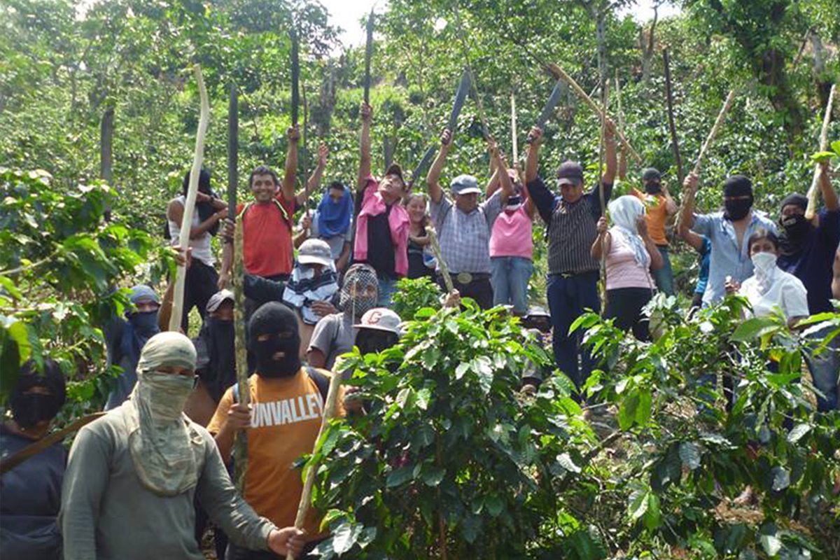
[[[840,243],[840,211],[819,212],[820,226],[807,233],[802,250],[780,255],[776,264],[802,281],[808,290],[808,311],[811,315],[832,311],[832,266],[837,243]]]

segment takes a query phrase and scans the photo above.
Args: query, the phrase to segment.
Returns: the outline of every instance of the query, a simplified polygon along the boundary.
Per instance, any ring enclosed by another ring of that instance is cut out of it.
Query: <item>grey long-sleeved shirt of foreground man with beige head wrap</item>
[[[140,482],[129,451],[128,406],[130,401],[81,428],[73,442],[59,516],[65,560],[203,560],[195,536],[196,497],[234,543],[265,550],[274,524],[239,496],[213,437],[192,421],[192,445],[202,447],[198,484],[161,497]]]

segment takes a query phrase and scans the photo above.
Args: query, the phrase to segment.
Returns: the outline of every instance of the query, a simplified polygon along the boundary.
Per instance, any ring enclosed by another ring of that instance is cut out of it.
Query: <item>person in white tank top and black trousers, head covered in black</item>
[[[190,188],[190,174],[187,171],[181,186],[181,195],[172,199],[166,208],[167,233],[173,245],[181,238],[181,224],[184,219],[186,192]],[[181,319],[181,329],[189,328],[189,315],[193,307],[205,317],[207,301],[218,290],[218,273],[213,266],[216,258],[213,256],[211,240],[218,233],[219,222],[228,216],[228,205],[218,199],[210,187],[210,172],[202,169],[198,175],[198,192],[196,193],[196,207],[192,213],[190,226],[190,247],[192,248],[192,265],[186,270],[184,281],[184,313]]]

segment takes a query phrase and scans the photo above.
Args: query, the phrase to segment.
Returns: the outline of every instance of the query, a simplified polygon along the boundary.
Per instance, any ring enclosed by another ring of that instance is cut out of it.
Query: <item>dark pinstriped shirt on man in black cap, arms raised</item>
[[[598,270],[592,258],[592,243],[598,233],[601,217],[601,195],[598,186],[578,201],[569,203],[549,191],[539,177],[528,183],[528,194],[545,222],[549,238],[549,275],[580,274]],[[612,184],[604,183],[604,203],[610,200]]]

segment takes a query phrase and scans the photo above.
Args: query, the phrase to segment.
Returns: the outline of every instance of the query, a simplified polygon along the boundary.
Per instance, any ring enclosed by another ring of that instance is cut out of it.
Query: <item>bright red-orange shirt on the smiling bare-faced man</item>
[[[250,275],[276,276],[291,275],[291,220],[295,213],[295,201],[286,201],[279,194],[275,201],[266,203],[251,202],[245,213],[242,245],[245,270]],[[283,216],[280,203],[286,210]],[[236,214],[242,213],[244,204],[239,204]]]

